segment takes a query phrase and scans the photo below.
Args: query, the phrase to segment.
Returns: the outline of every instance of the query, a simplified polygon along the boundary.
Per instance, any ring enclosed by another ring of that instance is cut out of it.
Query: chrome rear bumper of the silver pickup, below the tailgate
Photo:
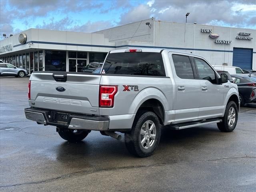
[[[82,114],[68,114],[67,122],[58,122],[54,114],[56,111],[25,108],[25,116],[27,119],[36,121],[44,125],[53,125],[58,127],[82,130],[108,130],[109,118],[107,116],[90,116]]]

